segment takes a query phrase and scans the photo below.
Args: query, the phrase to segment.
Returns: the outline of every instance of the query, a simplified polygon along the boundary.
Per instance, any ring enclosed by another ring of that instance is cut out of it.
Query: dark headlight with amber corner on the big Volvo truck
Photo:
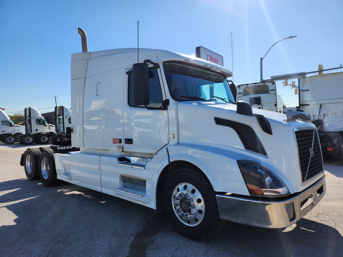
[[[271,170],[254,161],[237,161],[250,195],[285,195],[289,191]]]

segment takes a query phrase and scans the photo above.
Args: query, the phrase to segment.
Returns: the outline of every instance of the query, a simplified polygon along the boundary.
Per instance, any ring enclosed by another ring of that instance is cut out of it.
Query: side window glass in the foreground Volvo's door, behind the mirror
[[[132,72],[129,74],[129,106],[145,108],[144,105],[135,105],[132,96]],[[156,69],[149,69],[149,105],[150,108],[162,107],[162,91]]]

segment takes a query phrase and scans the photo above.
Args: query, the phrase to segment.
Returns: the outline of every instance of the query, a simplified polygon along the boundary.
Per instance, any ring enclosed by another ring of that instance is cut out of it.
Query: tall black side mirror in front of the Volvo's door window
[[[149,105],[149,67],[147,63],[132,65],[132,96],[135,105]]]

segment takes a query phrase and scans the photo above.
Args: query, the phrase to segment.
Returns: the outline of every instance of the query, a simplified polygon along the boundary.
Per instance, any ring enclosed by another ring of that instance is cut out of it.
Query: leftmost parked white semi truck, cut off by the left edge
[[[0,109],[0,141],[14,144],[17,135],[25,134],[25,126],[14,124],[8,115]]]

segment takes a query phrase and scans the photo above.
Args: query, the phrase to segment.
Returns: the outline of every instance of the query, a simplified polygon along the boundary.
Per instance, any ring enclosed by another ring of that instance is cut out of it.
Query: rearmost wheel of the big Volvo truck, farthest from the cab
[[[28,180],[39,179],[39,156],[40,150],[38,148],[28,148],[24,155],[24,169],[26,178]]]

